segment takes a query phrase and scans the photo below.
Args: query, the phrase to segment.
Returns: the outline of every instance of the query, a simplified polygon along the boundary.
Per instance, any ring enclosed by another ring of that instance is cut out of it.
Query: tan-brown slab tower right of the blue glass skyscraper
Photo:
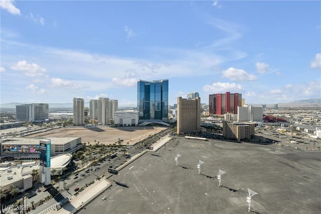
[[[201,130],[201,98],[177,98],[177,133]]]

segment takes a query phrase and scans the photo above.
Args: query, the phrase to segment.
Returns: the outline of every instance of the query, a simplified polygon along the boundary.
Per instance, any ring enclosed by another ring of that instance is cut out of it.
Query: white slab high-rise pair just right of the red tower
[[[262,107],[237,107],[237,121],[239,122],[247,122],[247,121],[255,121],[262,122],[263,121],[263,108]]]

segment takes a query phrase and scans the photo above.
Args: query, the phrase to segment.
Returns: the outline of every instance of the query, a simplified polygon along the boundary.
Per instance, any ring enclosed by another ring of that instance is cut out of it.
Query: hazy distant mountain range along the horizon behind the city
[[[29,104],[29,103],[7,103],[7,104],[0,104],[0,109],[15,109],[16,105],[22,105],[22,104]],[[72,103],[48,103],[49,109],[72,109],[73,104]],[[264,103],[263,103],[264,104]],[[321,99],[306,99],[306,100],[297,100],[289,103],[275,103],[280,108],[295,108],[295,107],[321,107]],[[249,104],[253,106],[261,106],[262,104]],[[85,103],[85,106],[89,106],[89,102]],[[121,108],[135,108],[136,106],[119,106],[119,109]],[[266,104],[266,107],[274,107],[274,104]]]

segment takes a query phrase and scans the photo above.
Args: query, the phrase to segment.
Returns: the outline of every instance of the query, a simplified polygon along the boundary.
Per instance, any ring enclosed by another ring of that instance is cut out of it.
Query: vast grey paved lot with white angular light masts
[[[320,213],[320,178],[320,152],[178,137],[113,175],[128,187],[112,182],[107,200],[99,196],[79,213],[248,213],[247,188],[258,192],[254,213]]]

